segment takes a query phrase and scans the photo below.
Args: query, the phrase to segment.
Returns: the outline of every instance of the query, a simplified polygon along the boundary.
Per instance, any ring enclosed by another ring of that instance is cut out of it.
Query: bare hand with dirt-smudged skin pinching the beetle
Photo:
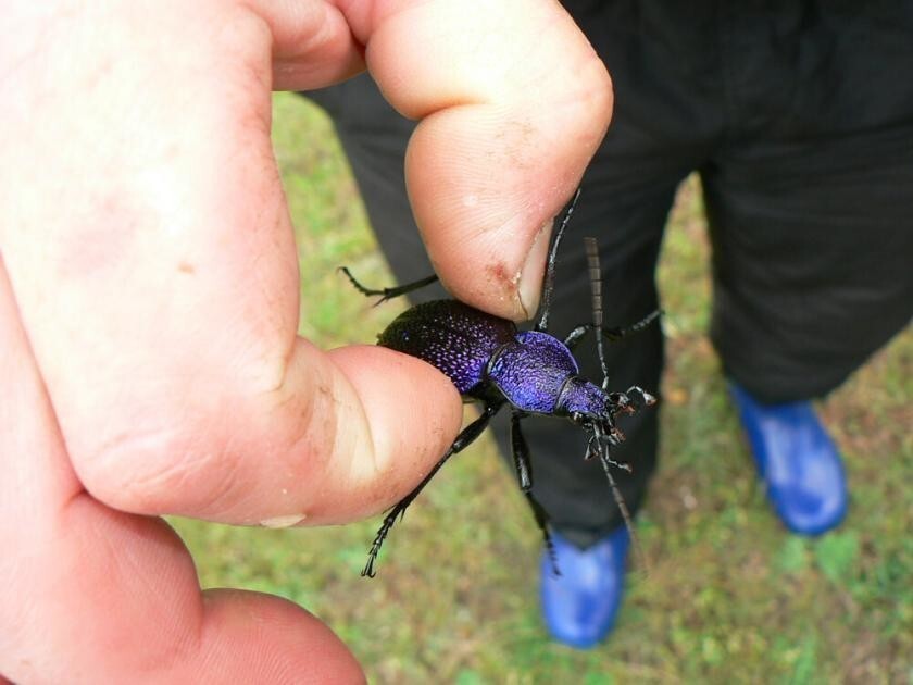
[[[421,120],[408,184],[442,279],[525,319],[550,219],[608,125],[604,67],[549,0],[7,0],[2,14],[0,672],[361,682],[303,609],[201,591],[158,519],[372,515],[460,426],[455,389],[424,362],[296,336],[271,90],[366,64]]]

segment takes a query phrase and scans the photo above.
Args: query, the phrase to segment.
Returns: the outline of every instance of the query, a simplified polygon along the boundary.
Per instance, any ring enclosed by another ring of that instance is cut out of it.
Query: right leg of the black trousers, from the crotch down
[[[913,315],[913,125],[740,166],[704,180],[714,346],[762,401],[821,397]]]

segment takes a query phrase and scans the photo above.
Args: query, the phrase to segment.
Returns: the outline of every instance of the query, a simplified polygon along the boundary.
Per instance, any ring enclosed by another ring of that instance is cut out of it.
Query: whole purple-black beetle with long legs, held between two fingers
[[[464,401],[480,402],[483,409],[481,414],[461,431],[422,482],[387,512],[368,551],[367,563],[362,570],[363,576],[374,577],[377,555],[397,519],[405,513],[407,508],[440,468],[481,435],[491,419],[505,406],[510,407],[511,411],[511,447],[520,488],[542,533],[555,573],[560,571],[554,562],[548,530],[549,518],[531,494],[529,447],[521,431],[521,422],[524,419],[530,415],[563,416],[588,434],[586,458],[600,459],[625,524],[631,531],[630,514],[610,470],[611,466],[616,466],[630,471],[630,468],[612,460],[609,450],[624,440],[624,435],[615,424],[615,418],[652,406],[656,400],[638,386],[633,386],[625,393],[606,391],[609,373],[602,351],[602,339],[604,337],[616,340],[641,331],[655,321],[660,312],[654,311],[626,327],[606,328],[602,325],[598,251],[596,241],[587,238],[593,321],[575,327],[564,338],[558,338],[548,332],[558,250],[579,194],[577,190],[568,204],[549,247],[540,315],[531,331],[520,331],[512,321],[488,314],[459,300],[435,300],[408,309],[377,336],[378,345],[417,357],[437,368],[450,378]],[[438,279],[436,275],[432,275],[393,288],[372,289],[359,283],[346,266],[340,271],[363,295],[380,296],[375,306]],[[577,344],[593,329],[602,332],[601,336],[597,336],[603,373],[601,386],[579,375],[579,366],[573,354]]]

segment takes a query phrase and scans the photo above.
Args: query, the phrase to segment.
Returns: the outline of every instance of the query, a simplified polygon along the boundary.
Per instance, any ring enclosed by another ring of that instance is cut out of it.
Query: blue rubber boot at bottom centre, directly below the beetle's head
[[[587,549],[555,532],[552,541],[561,575],[554,575],[551,560],[543,552],[540,599],[546,626],[558,642],[589,649],[615,625],[630,537],[625,526],[620,526]]]

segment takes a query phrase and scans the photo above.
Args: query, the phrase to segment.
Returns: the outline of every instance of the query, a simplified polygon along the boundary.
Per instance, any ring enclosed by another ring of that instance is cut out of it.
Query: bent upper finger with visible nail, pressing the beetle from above
[[[552,0],[352,3],[368,70],[421,120],[407,153],[413,211],[459,299],[514,320],[538,306],[550,222],[612,113],[612,84]]]

